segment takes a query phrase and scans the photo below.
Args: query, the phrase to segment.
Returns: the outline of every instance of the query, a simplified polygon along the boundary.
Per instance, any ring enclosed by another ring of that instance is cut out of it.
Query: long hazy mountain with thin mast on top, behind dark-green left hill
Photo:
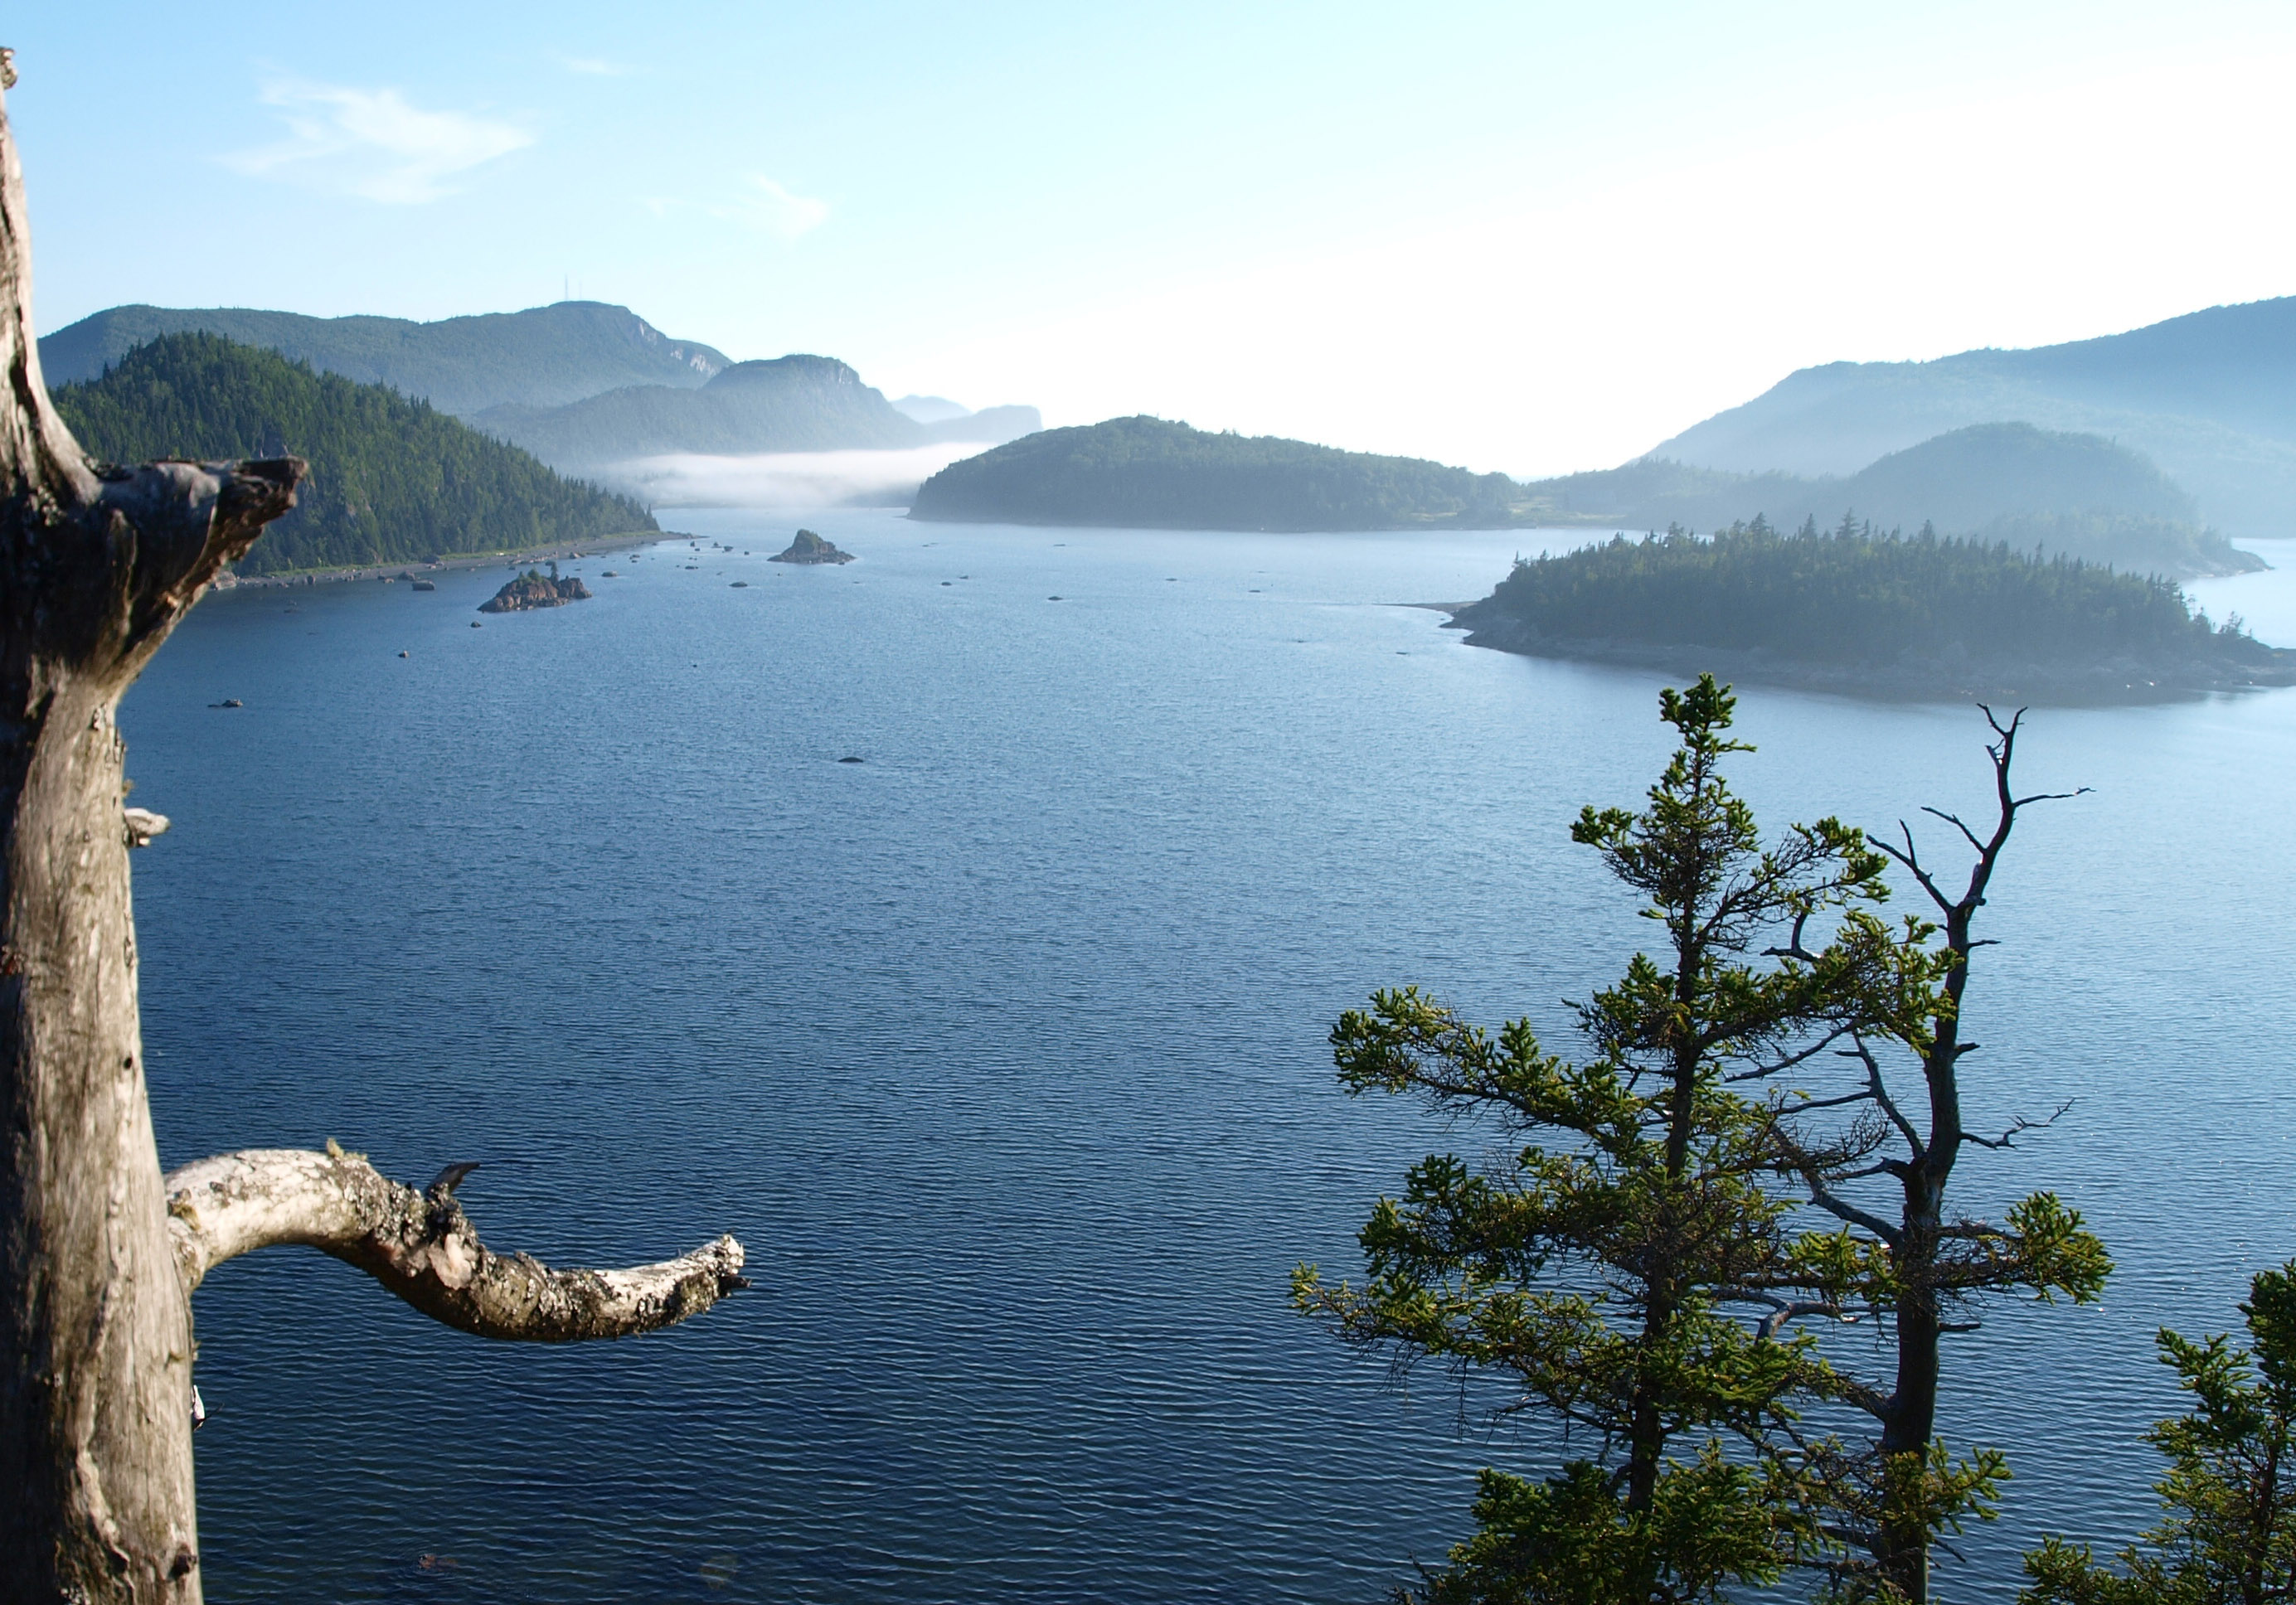
[[[96,379],[158,335],[204,331],[358,383],[388,383],[443,413],[563,406],[631,383],[698,388],[732,363],[670,340],[629,308],[560,301],[413,324],[404,317],[301,317],[246,308],[122,305],[39,342],[48,383]]]

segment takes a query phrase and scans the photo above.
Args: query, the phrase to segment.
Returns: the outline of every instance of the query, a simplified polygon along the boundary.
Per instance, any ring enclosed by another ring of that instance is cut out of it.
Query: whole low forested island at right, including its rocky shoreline
[[[2296,652],[2223,625],[2170,579],[1844,517],[1786,535],[1612,537],[1515,563],[1451,608],[1472,645],[1839,691],[2158,696],[2296,684]]]

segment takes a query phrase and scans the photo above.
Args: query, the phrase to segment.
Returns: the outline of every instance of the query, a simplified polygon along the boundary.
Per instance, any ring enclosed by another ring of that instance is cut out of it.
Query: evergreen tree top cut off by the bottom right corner
[[[2023,1605],[2268,1605],[2296,1594],[2296,1261],[2241,1304],[2250,1348],[2161,1332],[2161,1364],[2193,1408],[2147,1433],[2167,1458],[2163,1518],[2119,1571],[2087,1545],[2025,1557]]]

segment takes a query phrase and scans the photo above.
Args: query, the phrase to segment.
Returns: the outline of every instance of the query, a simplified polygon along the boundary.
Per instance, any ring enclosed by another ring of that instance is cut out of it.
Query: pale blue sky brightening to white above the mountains
[[[886,395],[1626,462],[2296,292],[2296,7],[0,9],[34,315],[567,294]]]

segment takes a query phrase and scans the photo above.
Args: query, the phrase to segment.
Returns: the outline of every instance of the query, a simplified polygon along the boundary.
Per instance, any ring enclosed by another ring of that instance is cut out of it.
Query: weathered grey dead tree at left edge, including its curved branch
[[[742,1247],[553,1274],[489,1254],[450,1180],[333,1153],[163,1185],[113,714],[303,464],[90,464],[39,377],[30,259],[0,101],[0,1605],[197,1605],[191,1288],[216,1261],[308,1242],[466,1332],[569,1341],[707,1309]]]

